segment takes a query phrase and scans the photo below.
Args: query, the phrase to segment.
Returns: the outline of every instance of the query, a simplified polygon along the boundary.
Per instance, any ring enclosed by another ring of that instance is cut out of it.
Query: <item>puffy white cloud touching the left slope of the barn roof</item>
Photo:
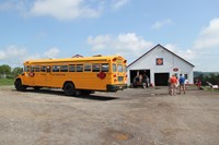
[[[148,49],[153,47],[151,41],[145,40],[135,33],[119,34],[118,36],[100,35],[96,37],[90,36],[88,44],[92,46],[93,51],[123,55],[126,57],[139,57]]]

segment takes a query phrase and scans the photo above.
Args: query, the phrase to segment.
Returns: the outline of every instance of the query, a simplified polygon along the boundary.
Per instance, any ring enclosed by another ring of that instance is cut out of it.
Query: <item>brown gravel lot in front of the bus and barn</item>
[[[0,87],[0,145],[218,145],[219,92],[128,88],[67,97]]]

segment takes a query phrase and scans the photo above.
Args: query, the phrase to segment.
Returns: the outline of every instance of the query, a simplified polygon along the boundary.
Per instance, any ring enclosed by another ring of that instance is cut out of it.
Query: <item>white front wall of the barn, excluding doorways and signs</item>
[[[163,58],[163,65],[157,65],[157,58]],[[174,68],[178,71],[174,72]],[[158,45],[154,49],[150,50],[146,56],[137,60],[128,67],[128,85],[130,85],[130,70],[150,70],[150,82],[154,84],[154,73],[170,73],[170,75],[177,73],[187,74],[186,83],[193,84],[193,65],[184,61],[176,55],[163,49]]]

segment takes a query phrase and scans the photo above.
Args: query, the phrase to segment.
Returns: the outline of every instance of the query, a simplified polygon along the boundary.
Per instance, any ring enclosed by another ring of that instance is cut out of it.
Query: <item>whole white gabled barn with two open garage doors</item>
[[[143,73],[149,76],[150,83],[155,86],[168,85],[172,74],[183,74],[187,84],[193,84],[194,65],[161,45],[157,45],[127,67],[128,85],[136,75]]]

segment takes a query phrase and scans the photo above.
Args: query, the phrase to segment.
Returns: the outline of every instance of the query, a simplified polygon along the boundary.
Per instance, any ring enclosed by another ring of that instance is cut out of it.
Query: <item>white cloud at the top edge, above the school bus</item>
[[[33,15],[53,16],[58,20],[96,17],[100,12],[100,9],[85,4],[84,0],[36,0],[31,8]]]

